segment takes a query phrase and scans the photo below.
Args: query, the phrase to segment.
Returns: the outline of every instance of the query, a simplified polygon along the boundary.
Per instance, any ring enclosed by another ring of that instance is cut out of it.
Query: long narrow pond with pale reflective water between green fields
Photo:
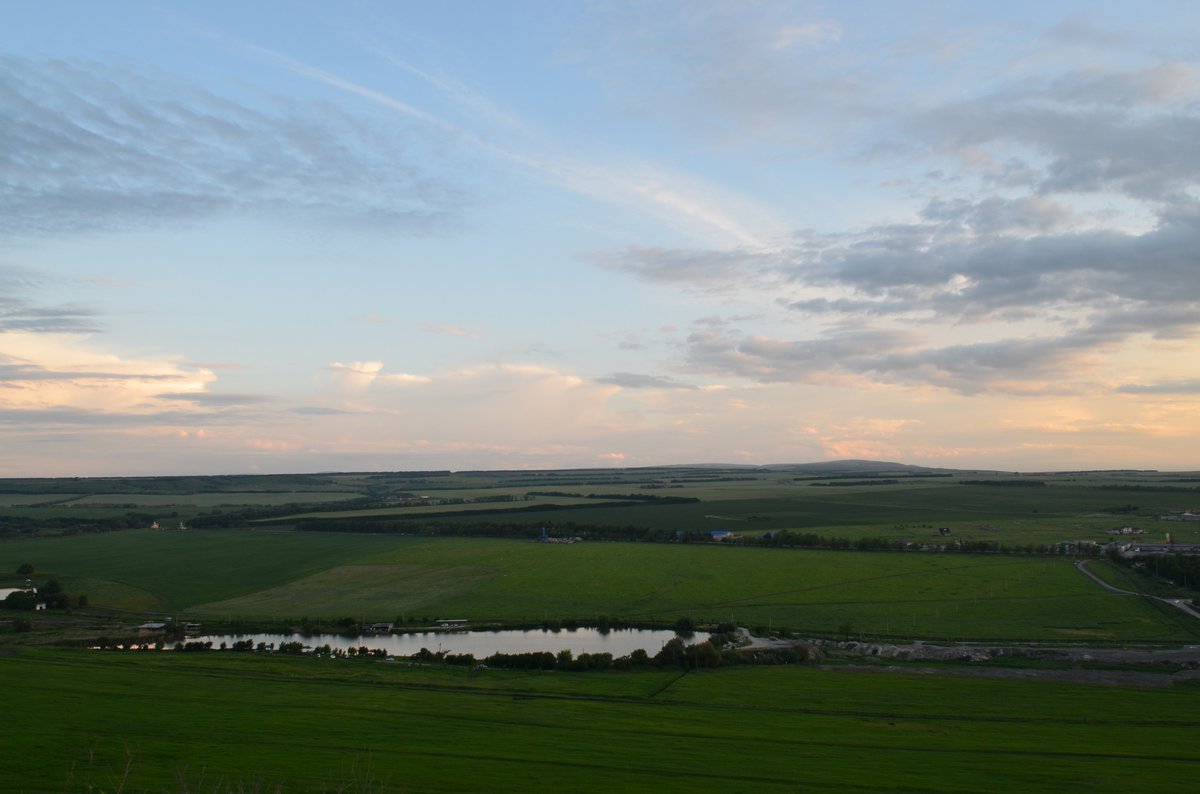
[[[613,658],[628,656],[641,648],[650,656],[654,656],[671,639],[677,637],[673,631],[640,630],[640,628],[614,628],[601,632],[599,628],[576,628],[563,631],[546,631],[530,628],[528,631],[431,631],[421,633],[404,634],[370,634],[362,637],[346,637],[344,634],[206,634],[203,637],[188,637],[187,642],[212,642],[214,648],[220,648],[221,643],[233,645],[238,640],[250,639],[258,643],[274,643],[278,648],[280,643],[301,642],[306,648],[329,645],[330,648],[361,648],[383,649],[394,656],[412,656],[422,648],[433,652],[445,651],[446,654],[470,654],[475,658],[485,658],[492,654],[530,654],[548,651],[557,654],[560,650],[570,650],[575,656],[580,654],[612,654]],[[696,632],[690,637],[679,636],[688,645],[702,643],[708,639],[704,632]]]

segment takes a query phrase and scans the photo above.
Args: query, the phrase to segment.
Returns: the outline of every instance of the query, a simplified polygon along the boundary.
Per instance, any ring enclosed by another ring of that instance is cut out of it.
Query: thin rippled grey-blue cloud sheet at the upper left
[[[109,64],[0,56],[0,235],[230,212],[422,231],[464,193],[397,134],[334,107],[253,107]]]

